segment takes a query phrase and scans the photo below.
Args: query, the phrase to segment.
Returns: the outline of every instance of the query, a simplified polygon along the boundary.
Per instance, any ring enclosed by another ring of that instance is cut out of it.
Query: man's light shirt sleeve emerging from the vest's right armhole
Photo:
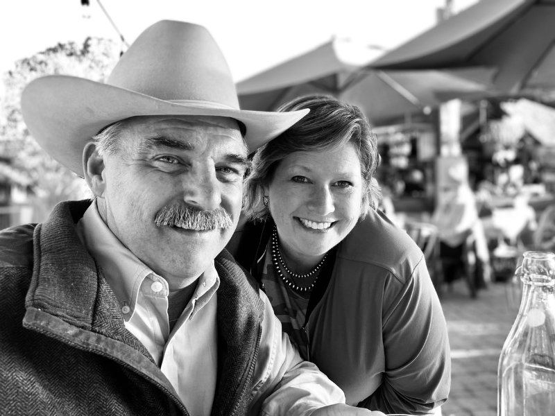
[[[281,323],[273,313],[266,294],[262,338],[253,379],[248,415],[305,416],[314,409],[345,403],[343,391],[318,370],[302,361]]]

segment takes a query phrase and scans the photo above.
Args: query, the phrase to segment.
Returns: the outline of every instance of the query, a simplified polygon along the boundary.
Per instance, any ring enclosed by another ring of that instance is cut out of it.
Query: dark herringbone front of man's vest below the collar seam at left
[[[1,415],[169,414],[167,397],[142,376],[24,328],[29,277],[27,269],[17,267],[0,275]]]

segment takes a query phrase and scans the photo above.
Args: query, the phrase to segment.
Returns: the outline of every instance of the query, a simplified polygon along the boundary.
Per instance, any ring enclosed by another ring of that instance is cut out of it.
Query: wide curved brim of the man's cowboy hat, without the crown
[[[175,103],[73,76],[33,80],[22,94],[22,113],[34,139],[62,165],[83,176],[83,148],[106,125],[133,116],[224,116],[246,126],[253,152],[302,119],[308,110],[234,110],[203,101]]]

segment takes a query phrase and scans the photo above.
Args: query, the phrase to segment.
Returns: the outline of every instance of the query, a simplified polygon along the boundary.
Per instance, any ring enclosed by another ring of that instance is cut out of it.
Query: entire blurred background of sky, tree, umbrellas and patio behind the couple
[[[453,350],[444,415],[495,415],[525,250],[555,250],[555,0],[22,0],[0,13],[0,229],[41,222],[82,179],[35,144],[34,78],[105,81],[160,19],[208,28],[245,110],[330,94],[377,135],[382,209],[425,253]],[[471,213],[456,257],[443,216]],[[484,318],[486,316],[487,318]]]

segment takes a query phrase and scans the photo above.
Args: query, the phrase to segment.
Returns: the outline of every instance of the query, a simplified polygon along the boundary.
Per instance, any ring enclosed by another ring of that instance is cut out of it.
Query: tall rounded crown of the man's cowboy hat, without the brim
[[[210,101],[239,109],[223,53],[203,26],[159,21],[123,54],[108,84],[165,101]]]

